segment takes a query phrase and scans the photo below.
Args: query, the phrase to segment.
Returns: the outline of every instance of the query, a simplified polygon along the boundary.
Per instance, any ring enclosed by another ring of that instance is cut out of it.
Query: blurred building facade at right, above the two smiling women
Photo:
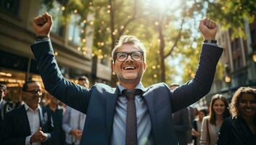
[[[256,87],[256,20],[244,22],[245,38],[232,38],[231,30],[220,30],[216,38],[224,48],[220,62],[225,66],[223,80],[215,80],[210,94],[224,94],[229,101],[241,86]]]

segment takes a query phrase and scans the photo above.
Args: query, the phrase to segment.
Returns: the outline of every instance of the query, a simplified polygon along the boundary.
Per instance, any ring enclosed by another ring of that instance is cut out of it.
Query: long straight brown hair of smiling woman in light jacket
[[[214,105],[215,101],[217,101],[218,99],[223,101],[225,104],[225,110],[223,112],[223,119],[230,116],[227,99],[223,95],[215,94],[214,96],[212,96],[212,101],[210,102],[210,112],[209,112],[209,116],[210,116],[209,120],[210,120],[210,123],[213,125],[216,125],[216,123],[215,123],[216,114],[213,110],[213,105]]]

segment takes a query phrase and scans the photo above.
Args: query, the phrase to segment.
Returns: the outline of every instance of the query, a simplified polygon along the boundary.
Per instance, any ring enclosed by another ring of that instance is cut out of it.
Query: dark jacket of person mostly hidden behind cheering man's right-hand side
[[[189,110],[187,108],[183,108],[178,112],[173,113],[173,125],[178,144],[187,145],[187,131],[189,130]]]

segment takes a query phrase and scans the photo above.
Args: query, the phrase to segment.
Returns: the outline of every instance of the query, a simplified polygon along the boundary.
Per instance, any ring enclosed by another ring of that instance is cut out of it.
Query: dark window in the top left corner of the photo
[[[15,15],[19,12],[19,6],[20,0],[0,0],[0,8]]]

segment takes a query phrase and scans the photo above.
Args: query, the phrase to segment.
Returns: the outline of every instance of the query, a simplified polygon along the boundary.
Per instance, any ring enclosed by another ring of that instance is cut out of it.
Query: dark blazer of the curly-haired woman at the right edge
[[[256,118],[255,118],[256,124]],[[252,145],[256,144],[256,133],[252,134],[249,126],[242,117],[229,117],[224,120],[220,134],[218,136],[218,145]]]

